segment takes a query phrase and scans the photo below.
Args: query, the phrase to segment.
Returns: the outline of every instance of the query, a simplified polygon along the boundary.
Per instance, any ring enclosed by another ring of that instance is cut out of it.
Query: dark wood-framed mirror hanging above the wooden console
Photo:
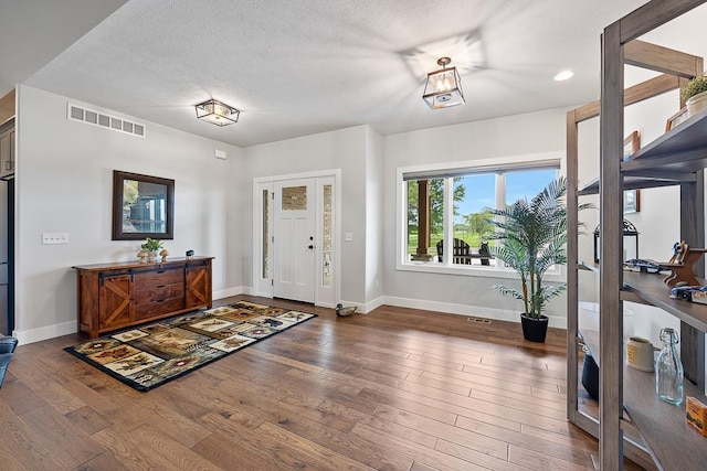
[[[113,240],[175,238],[175,181],[113,171]]]

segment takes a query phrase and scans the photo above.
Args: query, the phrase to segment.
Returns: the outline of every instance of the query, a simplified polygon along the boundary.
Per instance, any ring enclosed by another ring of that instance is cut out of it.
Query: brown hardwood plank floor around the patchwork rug
[[[240,296],[319,318],[148,393],[62,349],[21,345],[0,390],[3,470],[582,470],[564,331]],[[630,463],[627,463],[630,464]],[[627,468],[630,469],[630,468]]]

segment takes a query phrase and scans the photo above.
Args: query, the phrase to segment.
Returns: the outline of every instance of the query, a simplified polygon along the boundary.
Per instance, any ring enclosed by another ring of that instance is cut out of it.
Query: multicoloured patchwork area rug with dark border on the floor
[[[64,350],[138,390],[148,390],[315,317],[240,301]]]

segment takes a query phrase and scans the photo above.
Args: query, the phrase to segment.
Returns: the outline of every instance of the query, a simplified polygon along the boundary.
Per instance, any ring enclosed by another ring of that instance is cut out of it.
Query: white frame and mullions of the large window
[[[564,152],[542,152],[514,157],[503,157],[493,159],[478,159],[458,162],[441,162],[422,165],[399,167],[395,170],[395,190],[397,190],[397,227],[395,227],[395,269],[400,271],[418,271],[429,274],[445,275],[463,275],[463,276],[483,276],[492,275],[495,278],[517,278],[514,269],[493,265],[458,265],[452,264],[452,257],[444,257],[442,264],[430,264],[425,261],[410,260],[408,254],[408,185],[405,180],[422,180],[425,175],[430,178],[444,176],[451,181],[455,175],[471,173],[497,173],[495,184],[496,206],[502,207],[506,204],[506,184],[505,172],[514,170],[532,170],[534,168],[557,167],[558,176],[566,174],[566,156]],[[446,240],[454,237],[453,224],[453,184],[444,185],[444,233]],[[561,282],[566,277],[566,267],[559,266],[550,269],[545,275],[545,280]]]

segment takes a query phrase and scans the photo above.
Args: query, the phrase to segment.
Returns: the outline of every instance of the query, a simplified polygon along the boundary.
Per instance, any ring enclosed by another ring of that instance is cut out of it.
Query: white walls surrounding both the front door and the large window
[[[566,109],[381,137],[367,126],[244,149],[249,179],[341,169],[341,300],[365,311],[380,303],[517,320],[519,303],[492,285],[498,279],[395,269],[395,169],[432,162],[507,158],[564,149]],[[243,280],[252,286],[252,183],[238,201],[243,224]],[[342,234],[352,233],[354,240]],[[550,303],[564,325],[564,301]]]

